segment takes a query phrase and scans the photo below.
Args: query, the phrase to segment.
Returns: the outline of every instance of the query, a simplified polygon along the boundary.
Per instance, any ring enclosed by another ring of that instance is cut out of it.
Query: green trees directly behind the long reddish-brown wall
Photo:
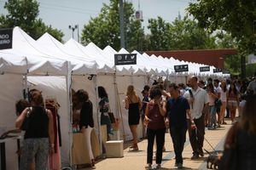
[[[166,23],[160,17],[150,19],[148,23],[150,50],[216,48],[215,38],[187,16],[172,23]]]

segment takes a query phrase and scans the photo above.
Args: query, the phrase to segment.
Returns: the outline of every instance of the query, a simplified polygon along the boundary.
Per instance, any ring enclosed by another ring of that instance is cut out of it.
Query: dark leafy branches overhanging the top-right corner
[[[236,38],[243,54],[256,52],[253,20],[256,18],[255,0],[197,0],[188,11],[208,31],[223,30]]]

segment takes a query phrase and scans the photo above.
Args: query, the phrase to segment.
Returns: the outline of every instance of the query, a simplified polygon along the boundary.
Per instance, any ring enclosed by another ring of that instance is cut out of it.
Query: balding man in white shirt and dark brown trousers
[[[189,141],[193,149],[191,159],[198,159],[199,155],[204,156],[202,147],[205,135],[205,123],[202,111],[208,104],[208,97],[207,91],[198,87],[197,77],[189,78],[188,84],[192,89],[188,90],[183,97],[189,101],[191,117],[195,122],[195,128],[191,128],[191,122],[189,122],[188,126]]]

